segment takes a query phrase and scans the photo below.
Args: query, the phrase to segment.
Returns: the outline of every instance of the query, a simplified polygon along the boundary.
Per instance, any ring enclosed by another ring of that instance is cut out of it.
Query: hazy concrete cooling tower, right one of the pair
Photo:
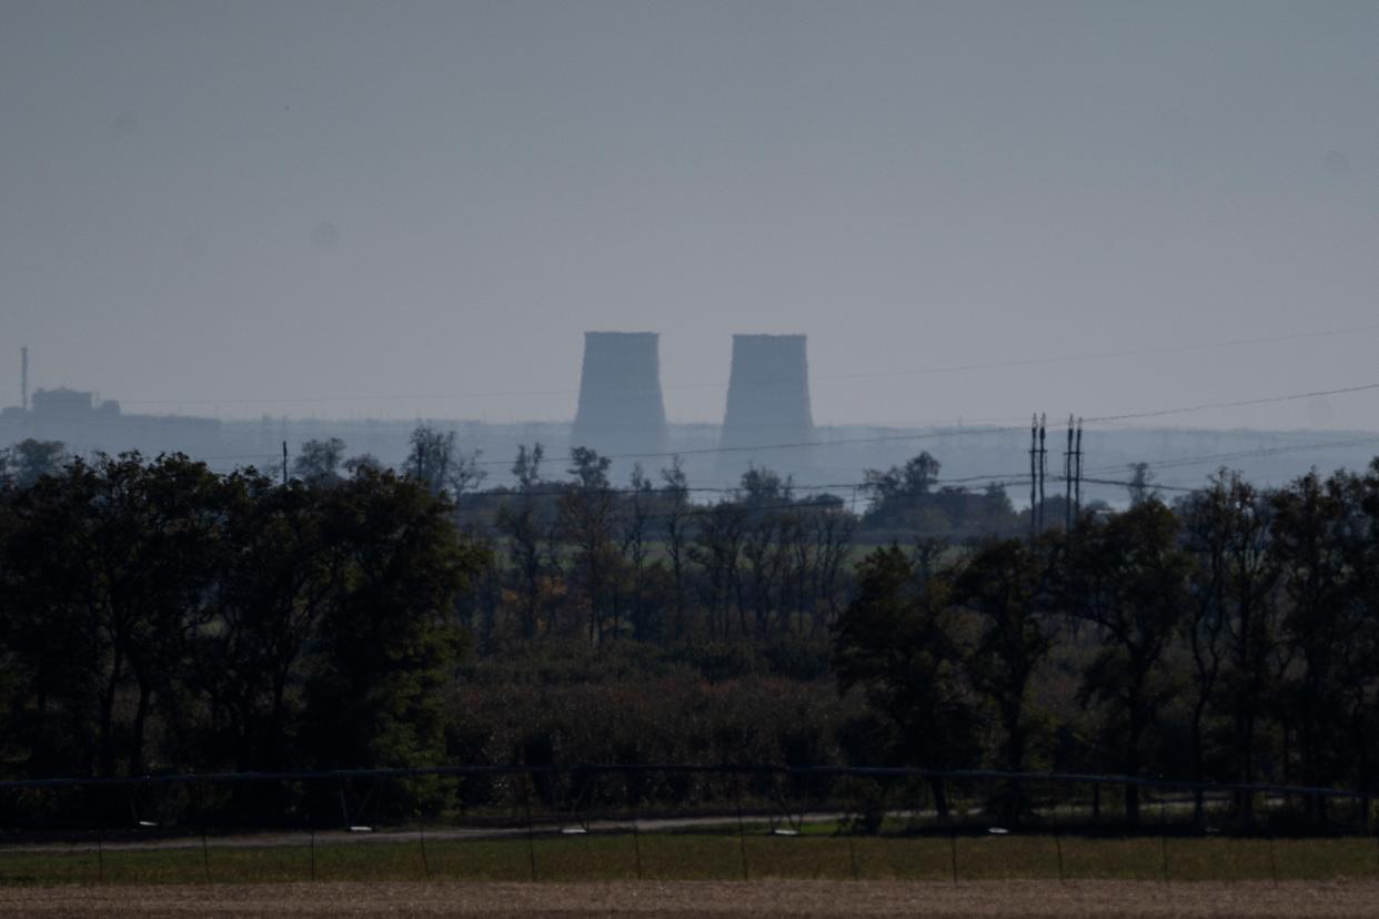
[[[745,448],[809,444],[809,362],[804,335],[734,335],[728,408],[723,416],[720,475],[741,475],[749,466],[787,474],[812,463],[809,451]]]

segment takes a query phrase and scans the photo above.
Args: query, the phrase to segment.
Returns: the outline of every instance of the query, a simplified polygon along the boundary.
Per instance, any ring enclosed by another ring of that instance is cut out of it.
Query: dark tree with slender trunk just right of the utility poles
[[[1174,513],[1153,499],[1105,524],[1083,521],[1069,546],[1065,609],[1094,626],[1100,643],[1077,697],[1109,705],[1106,734],[1121,774],[1138,777],[1145,736],[1174,696],[1164,654],[1186,606],[1190,558],[1178,546]],[[1139,821],[1135,784],[1125,785],[1125,818]]]

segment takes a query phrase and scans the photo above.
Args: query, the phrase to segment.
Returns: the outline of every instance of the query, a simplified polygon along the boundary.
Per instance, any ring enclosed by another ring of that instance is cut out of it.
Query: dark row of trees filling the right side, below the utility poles
[[[1273,492],[1223,471],[1174,507],[1143,497],[931,570],[881,548],[836,634],[841,686],[884,712],[905,762],[1369,791],[1379,462]]]

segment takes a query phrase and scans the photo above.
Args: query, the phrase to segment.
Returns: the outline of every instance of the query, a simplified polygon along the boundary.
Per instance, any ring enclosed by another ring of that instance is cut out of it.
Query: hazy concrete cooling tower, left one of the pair
[[[655,332],[585,332],[572,446],[604,455],[665,451],[659,339]],[[644,463],[655,468],[655,462]]]

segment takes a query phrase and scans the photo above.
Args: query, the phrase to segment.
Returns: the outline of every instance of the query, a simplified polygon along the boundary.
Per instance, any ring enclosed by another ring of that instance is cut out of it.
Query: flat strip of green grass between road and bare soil
[[[1062,867],[1059,858],[1062,857]],[[1342,880],[1379,878],[1379,840],[778,836],[644,832],[502,839],[0,850],[0,885],[292,880]]]

